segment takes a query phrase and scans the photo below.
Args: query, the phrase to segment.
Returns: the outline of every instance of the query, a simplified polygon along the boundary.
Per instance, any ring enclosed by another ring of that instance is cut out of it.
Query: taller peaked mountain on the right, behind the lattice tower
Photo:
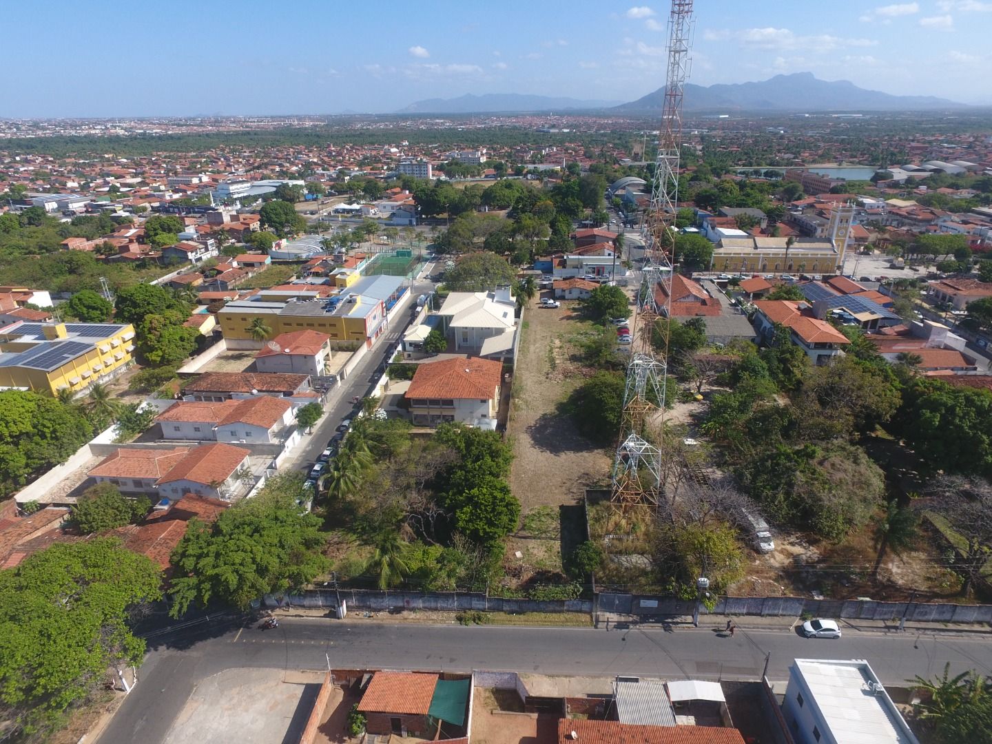
[[[665,88],[659,88],[636,101],[616,106],[614,111],[660,111]],[[865,90],[847,80],[820,80],[812,72],[776,75],[759,82],[685,85],[686,111],[925,111],[964,108],[930,95],[891,95]]]

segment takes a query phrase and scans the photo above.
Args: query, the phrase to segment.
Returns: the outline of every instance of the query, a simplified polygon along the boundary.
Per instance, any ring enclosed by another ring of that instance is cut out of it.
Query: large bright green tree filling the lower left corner
[[[48,733],[106,679],[141,664],[130,611],[160,598],[152,560],[120,540],[57,543],[0,570],[0,701],[11,733]]]

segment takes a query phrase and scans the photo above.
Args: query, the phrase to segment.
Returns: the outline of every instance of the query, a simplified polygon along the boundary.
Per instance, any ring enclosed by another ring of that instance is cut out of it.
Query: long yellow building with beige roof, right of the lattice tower
[[[711,271],[744,274],[832,274],[841,256],[830,240],[723,238],[713,249]]]

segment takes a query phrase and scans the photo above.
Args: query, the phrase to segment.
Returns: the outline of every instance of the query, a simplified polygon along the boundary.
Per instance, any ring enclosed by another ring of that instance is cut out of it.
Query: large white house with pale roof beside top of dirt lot
[[[509,358],[517,332],[517,303],[509,289],[452,292],[437,314],[462,354]]]

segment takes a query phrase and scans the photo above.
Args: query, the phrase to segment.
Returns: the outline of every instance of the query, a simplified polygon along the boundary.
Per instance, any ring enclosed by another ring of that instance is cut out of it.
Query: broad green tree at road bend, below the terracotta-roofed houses
[[[294,591],[329,565],[320,520],[301,513],[297,498],[268,485],[221,512],[212,525],[192,519],[173,554],[170,614],[226,602],[245,609],[265,594]]]

